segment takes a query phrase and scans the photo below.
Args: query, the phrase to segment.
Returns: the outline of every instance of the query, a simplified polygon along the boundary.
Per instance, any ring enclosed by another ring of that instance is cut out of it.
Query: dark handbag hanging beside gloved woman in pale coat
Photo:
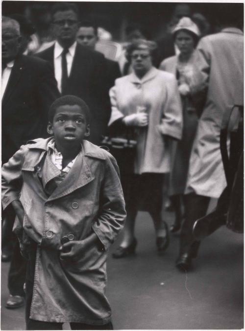
[[[104,136],[101,145],[106,146],[117,160],[121,175],[132,174],[137,141],[134,128],[125,128],[118,136]]]

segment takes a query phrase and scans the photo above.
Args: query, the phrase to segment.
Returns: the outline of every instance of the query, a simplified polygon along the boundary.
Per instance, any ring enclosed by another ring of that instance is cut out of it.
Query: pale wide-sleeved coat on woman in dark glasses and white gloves
[[[142,79],[134,73],[116,79],[110,89],[112,113],[109,126],[142,107],[148,126],[136,129],[137,152],[134,172],[170,172],[171,142],[165,135],[180,139],[182,109],[175,77],[152,67]]]

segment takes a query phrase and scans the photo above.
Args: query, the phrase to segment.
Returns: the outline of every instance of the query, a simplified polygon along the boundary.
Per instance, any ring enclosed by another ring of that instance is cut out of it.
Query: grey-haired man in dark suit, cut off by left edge
[[[20,53],[20,25],[2,18],[2,163],[28,140],[45,137],[50,104],[59,97],[56,81],[49,64]],[[15,214],[7,208],[2,213],[2,246],[12,237]],[[25,261],[15,237],[8,275],[10,297],[7,308],[24,305]],[[6,247],[4,247],[6,248]],[[2,260],[8,252],[2,250]]]

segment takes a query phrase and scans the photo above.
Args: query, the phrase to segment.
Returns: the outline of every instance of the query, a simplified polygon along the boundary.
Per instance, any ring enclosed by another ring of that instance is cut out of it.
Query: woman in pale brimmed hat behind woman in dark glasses
[[[197,25],[188,17],[183,17],[172,31],[179,54],[165,59],[160,69],[174,74],[178,80],[178,91],[183,109],[183,136],[175,143],[174,162],[170,176],[169,194],[175,210],[175,221],[171,231],[181,227],[181,202],[186,186],[189,159],[196,134],[197,121],[205,98],[206,77],[200,72],[201,58],[196,51],[199,39]]]

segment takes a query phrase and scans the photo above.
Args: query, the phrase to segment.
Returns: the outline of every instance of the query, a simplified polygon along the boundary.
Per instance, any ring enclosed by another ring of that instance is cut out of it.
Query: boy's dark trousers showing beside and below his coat
[[[35,274],[35,263],[36,263],[36,243],[32,243],[28,249],[28,262],[26,269],[26,306],[25,306],[25,322],[26,330],[62,330],[63,323],[56,322],[43,322],[35,321],[29,318],[30,307],[32,301],[33,285],[34,285],[34,274]],[[111,322],[104,325],[89,325],[84,323],[70,323],[72,330],[113,330],[113,325]]]

